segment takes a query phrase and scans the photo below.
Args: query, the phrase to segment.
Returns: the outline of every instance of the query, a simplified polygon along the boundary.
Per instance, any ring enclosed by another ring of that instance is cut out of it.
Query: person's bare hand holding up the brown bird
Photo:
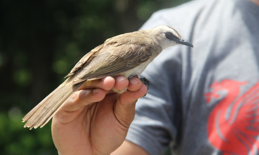
[[[118,95],[111,89],[128,91]],[[52,119],[59,154],[110,154],[125,140],[135,103],[147,87],[139,77],[108,76],[84,84]]]

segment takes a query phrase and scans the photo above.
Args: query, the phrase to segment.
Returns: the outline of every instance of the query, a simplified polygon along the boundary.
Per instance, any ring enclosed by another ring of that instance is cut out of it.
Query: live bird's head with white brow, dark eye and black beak
[[[170,26],[160,25],[149,30],[163,49],[178,44],[193,47],[191,42],[182,38],[177,30]]]

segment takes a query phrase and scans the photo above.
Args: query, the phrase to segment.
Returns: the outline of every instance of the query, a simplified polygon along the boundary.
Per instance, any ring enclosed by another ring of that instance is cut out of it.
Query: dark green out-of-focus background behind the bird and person
[[[107,38],[136,31],[153,12],[187,1],[1,1],[0,155],[57,154],[51,121],[29,130],[24,115]]]

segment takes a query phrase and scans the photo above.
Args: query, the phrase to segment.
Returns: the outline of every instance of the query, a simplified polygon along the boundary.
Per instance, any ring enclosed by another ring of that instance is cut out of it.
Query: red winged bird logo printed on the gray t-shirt
[[[248,82],[222,80],[211,84],[206,102],[221,99],[207,122],[208,141],[223,155],[259,154],[259,81],[244,94]]]

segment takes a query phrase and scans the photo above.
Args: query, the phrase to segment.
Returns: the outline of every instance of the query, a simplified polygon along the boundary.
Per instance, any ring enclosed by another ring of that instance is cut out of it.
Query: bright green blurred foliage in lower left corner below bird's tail
[[[20,108],[0,113],[0,154],[57,154],[51,137],[50,123],[37,130],[23,128]]]

